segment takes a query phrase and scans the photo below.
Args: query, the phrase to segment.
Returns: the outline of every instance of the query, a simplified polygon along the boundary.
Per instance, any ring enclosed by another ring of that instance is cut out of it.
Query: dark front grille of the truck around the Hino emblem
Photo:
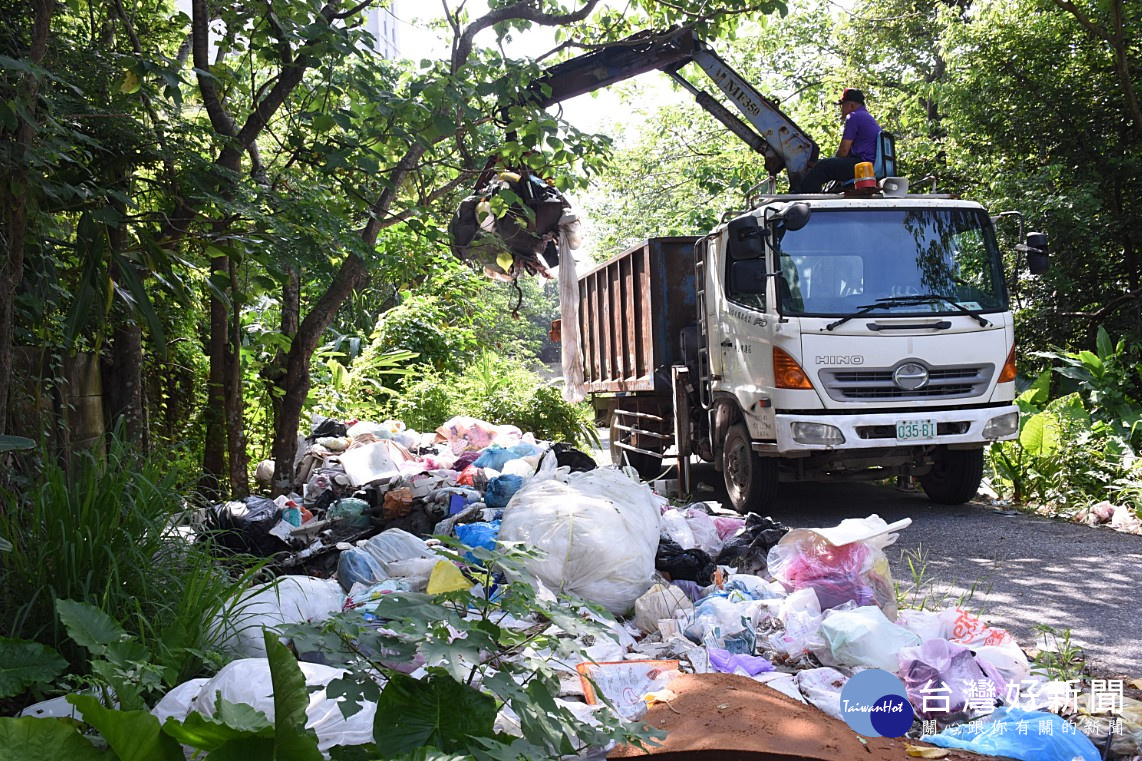
[[[821,370],[820,377],[826,393],[837,401],[963,399],[979,396],[987,390],[995,365],[928,368],[927,385],[914,390],[899,387],[892,379],[892,370],[845,368]]]

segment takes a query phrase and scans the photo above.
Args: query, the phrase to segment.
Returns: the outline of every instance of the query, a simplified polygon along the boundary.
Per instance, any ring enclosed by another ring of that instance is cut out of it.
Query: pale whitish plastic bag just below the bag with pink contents
[[[901,648],[920,643],[920,638],[888,620],[876,606],[830,610],[821,622],[826,647],[819,657],[843,666],[871,666],[895,673]]]

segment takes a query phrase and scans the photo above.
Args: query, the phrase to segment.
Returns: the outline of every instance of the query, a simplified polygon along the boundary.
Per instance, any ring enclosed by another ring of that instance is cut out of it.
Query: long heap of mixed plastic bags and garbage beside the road
[[[1008,632],[963,608],[898,610],[885,548],[908,519],[790,530],[716,503],[675,506],[632,471],[473,418],[428,434],[399,422],[317,420],[307,443],[299,492],[217,505],[209,521],[220,546],[279,553],[281,566],[305,572],[242,591],[241,614],[216,624],[242,659],[177,688],[155,708],[161,716],[185,715],[219,691],[265,707],[265,696],[242,692],[266,683],[257,676],[263,627],[368,611],[396,592],[476,588],[468,571],[482,561],[436,546],[453,537],[472,552],[537,550],[526,580],[617,617],[613,641],[577,643],[562,700],[606,703],[638,720],[669,699],[675,675],[722,673],[841,719],[847,680],[879,668],[904,684],[916,715],[909,737],[931,745],[1037,761],[1142,753],[1142,703],[1120,681],[1084,690],[1052,680]],[[417,660],[413,676],[433,665]],[[319,686],[340,673],[305,668]],[[372,724],[372,713],[344,718],[336,704],[311,700],[322,750],[367,737]]]

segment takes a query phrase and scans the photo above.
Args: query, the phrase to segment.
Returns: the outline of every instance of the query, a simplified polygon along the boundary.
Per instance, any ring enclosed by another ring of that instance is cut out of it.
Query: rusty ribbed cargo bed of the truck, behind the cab
[[[698,319],[697,237],[651,238],[579,278],[579,339],[590,393],[664,391]]]

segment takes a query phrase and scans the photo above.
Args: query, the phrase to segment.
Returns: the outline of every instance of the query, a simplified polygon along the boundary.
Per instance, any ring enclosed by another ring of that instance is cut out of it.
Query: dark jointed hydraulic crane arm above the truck
[[[678,73],[691,62],[701,67],[749,123]],[[532,83],[532,102],[547,107],[654,69],[669,74],[694,95],[699,105],[765,157],[765,169],[771,175],[785,169],[791,187],[801,184],[817,161],[817,143],[689,30],[640,32],[617,45],[556,64]]]

